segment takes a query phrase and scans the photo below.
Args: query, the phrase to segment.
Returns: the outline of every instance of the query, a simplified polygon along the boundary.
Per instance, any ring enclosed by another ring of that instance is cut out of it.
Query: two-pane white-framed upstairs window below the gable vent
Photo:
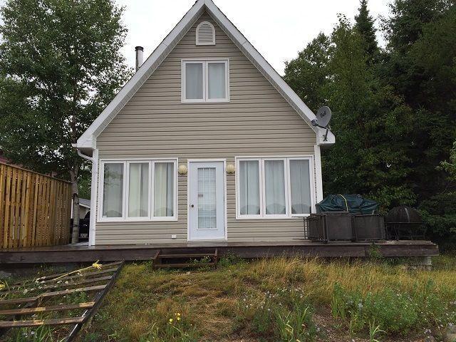
[[[183,59],[182,102],[229,102],[228,58]]]

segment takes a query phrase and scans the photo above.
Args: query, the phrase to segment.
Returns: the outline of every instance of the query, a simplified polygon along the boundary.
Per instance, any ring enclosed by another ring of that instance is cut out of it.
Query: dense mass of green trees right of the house
[[[355,24],[340,16],[331,36],[320,33],[287,63],[285,80],[311,109],[333,110],[326,193],[360,193],[383,212],[419,207],[430,236],[448,236],[456,212],[456,5],[395,0],[390,10],[381,22],[385,49],[361,0]]]

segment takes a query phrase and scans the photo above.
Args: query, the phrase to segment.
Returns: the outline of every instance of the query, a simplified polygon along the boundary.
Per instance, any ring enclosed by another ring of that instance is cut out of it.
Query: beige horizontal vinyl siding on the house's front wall
[[[196,46],[195,28],[208,20],[215,46]],[[181,103],[182,58],[229,58],[229,103]],[[188,159],[314,155],[316,134],[224,32],[203,14],[97,138],[100,159]],[[229,242],[291,241],[303,220],[236,219],[234,175],[227,175]],[[187,242],[187,175],[178,176],[177,221],[97,222],[95,244]],[[171,239],[176,234],[177,239]]]

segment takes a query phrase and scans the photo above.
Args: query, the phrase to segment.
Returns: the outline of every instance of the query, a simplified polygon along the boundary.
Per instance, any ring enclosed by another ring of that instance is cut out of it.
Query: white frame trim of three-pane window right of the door
[[[271,157],[234,157],[236,163],[236,219],[291,219],[296,217],[308,217],[310,214],[291,214],[291,180],[290,173],[290,160],[309,160],[309,178],[311,190],[311,212],[315,212],[315,172],[314,172],[314,156],[313,155],[289,155],[289,156],[271,156]],[[258,215],[240,214],[240,190],[239,190],[239,162],[241,160],[258,160],[259,161],[259,192],[260,192],[260,213]],[[265,183],[264,183],[264,160],[284,160],[285,170],[285,200],[286,200],[286,214],[266,214],[265,211]]]

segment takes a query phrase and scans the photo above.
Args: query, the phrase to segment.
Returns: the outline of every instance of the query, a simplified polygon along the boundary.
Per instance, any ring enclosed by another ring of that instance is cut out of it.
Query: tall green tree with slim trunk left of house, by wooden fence
[[[75,217],[88,165],[71,144],[131,72],[122,12],[113,0],[7,0],[0,11],[0,145],[16,163],[71,180]]]

